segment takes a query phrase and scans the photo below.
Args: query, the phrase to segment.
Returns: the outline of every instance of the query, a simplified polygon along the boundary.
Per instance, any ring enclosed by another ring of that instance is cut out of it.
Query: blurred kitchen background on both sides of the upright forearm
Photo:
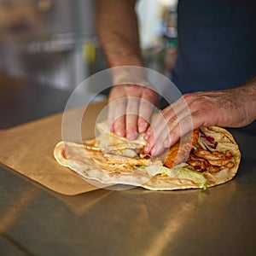
[[[0,0],[0,72],[73,90],[106,68],[94,26],[95,2]],[[145,65],[167,76],[177,55],[176,2],[137,2]]]

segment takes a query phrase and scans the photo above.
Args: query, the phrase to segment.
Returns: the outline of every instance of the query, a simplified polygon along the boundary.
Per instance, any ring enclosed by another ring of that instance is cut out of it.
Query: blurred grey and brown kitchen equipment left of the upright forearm
[[[0,13],[1,9],[8,14],[15,11],[21,18],[16,23],[9,20],[4,29],[0,22],[0,69],[72,90],[104,63],[96,61],[102,57],[95,35],[94,8],[92,0],[2,1]],[[26,20],[28,10],[32,15]]]

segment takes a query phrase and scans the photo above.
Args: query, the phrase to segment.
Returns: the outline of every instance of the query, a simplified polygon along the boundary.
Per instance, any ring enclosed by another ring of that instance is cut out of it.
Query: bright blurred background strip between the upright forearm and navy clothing
[[[137,15],[145,66],[172,78],[177,59],[177,0],[141,0]]]

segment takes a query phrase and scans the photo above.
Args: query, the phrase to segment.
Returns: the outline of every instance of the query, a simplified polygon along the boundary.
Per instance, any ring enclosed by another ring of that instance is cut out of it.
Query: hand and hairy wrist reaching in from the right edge
[[[196,92],[165,108],[148,128],[146,154],[159,155],[201,125],[241,127],[256,119],[256,84],[230,90]]]

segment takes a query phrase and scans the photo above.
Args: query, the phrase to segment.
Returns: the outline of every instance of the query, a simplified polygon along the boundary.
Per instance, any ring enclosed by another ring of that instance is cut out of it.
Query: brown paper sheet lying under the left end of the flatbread
[[[97,115],[105,105],[105,101],[96,102],[86,108],[83,139],[94,137]],[[81,111],[84,112],[84,108],[73,109],[68,112],[69,117],[75,120]],[[61,141],[61,121],[62,113],[58,113],[0,131],[0,162],[64,195],[79,195],[98,189],[55,161],[53,150]]]

